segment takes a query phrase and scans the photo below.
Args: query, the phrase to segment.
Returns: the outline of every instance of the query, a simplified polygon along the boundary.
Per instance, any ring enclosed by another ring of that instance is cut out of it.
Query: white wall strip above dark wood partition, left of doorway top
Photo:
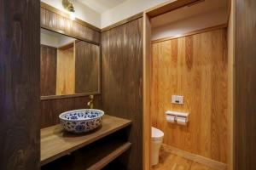
[[[170,0],[127,0],[102,13],[102,28]],[[174,0],[173,0],[174,1]]]

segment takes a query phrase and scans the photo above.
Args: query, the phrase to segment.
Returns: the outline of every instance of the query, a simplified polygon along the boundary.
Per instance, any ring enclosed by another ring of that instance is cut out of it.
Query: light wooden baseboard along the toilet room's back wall
[[[177,156],[182,156],[188,160],[201,163],[203,165],[206,165],[207,167],[212,167],[213,169],[216,169],[216,170],[227,170],[227,164],[225,164],[225,163],[222,163],[219,161],[214,161],[214,160],[209,159],[204,156],[198,156],[198,155],[192,154],[188,151],[177,149],[170,145],[166,145],[166,144],[162,144],[162,145],[167,150],[169,150],[172,154],[175,154]]]

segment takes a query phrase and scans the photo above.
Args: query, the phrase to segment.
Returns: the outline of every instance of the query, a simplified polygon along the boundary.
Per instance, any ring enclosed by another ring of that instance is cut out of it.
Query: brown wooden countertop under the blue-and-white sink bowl
[[[130,124],[130,120],[105,115],[103,116],[102,127],[90,133],[67,133],[61,125],[43,128],[41,129],[41,166]]]

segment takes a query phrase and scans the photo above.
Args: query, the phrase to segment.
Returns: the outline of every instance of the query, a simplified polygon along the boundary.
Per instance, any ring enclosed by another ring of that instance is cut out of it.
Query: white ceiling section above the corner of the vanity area
[[[87,7],[95,10],[97,13],[104,13],[110,8],[114,8],[126,0],[77,0]]]

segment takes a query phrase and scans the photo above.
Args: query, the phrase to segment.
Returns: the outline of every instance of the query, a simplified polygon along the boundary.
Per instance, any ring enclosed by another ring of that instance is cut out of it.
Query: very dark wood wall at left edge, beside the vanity
[[[40,2],[0,1],[0,169],[40,158]]]

